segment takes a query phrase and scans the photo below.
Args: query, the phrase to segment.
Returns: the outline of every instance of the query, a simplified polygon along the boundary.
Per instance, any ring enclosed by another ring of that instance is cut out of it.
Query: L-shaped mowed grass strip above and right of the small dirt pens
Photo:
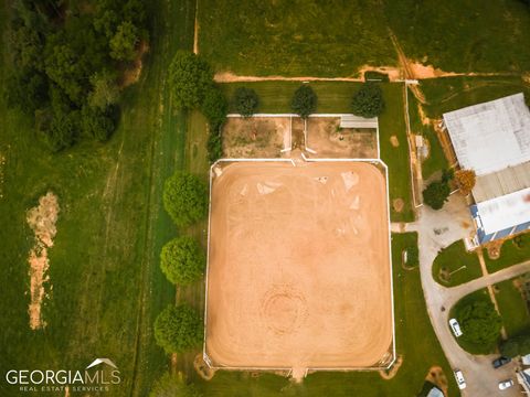
[[[318,96],[317,112],[351,112],[353,94],[361,83],[350,82],[312,82],[310,86]],[[300,86],[299,82],[257,82],[222,84],[229,100],[237,87],[250,87],[259,96],[259,112],[292,112],[293,93]],[[394,222],[414,219],[409,167],[409,144],[404,119],[403,85],[382,84],[386,108],[379,117],[381,159],[389,167],[390,198],[402,198],[404,207],[395,212],[391,205],[391,217]],[[231,105],[230,111],[235,111]],[[310,121],[309,121],[310,122]],[[400,142],[393,147],[390,138],[395,136]]]

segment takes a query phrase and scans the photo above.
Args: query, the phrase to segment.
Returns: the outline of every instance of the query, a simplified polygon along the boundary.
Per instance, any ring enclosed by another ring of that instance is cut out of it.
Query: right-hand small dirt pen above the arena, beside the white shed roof
[[[339,117],[311,117],[307,121],[307,146],[317,158],[377,159],[375,129],[338,129]]]

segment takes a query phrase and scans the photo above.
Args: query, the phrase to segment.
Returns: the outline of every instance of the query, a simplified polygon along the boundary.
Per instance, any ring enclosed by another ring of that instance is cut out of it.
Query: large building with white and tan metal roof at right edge
[[[530,228],[530,110],[522,93],[444,114],[460,168],[474,170],[470,207],[484,244]]]

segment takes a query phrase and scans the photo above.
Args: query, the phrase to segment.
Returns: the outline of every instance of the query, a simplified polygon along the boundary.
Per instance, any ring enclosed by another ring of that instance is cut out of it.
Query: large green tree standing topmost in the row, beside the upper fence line
[[[213,72],[198,55],[178,51],[169,66],[169,84],[179,108],[197,108],[213,84]]]

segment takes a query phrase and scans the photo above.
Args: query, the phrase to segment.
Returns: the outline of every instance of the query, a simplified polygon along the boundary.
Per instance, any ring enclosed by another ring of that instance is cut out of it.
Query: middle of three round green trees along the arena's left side
[[[190,236],[181,236],[166,244],[160,253],[160,268],[169,281],[188,286],[199,280],[206,264],[206,256],[199,243]]]

